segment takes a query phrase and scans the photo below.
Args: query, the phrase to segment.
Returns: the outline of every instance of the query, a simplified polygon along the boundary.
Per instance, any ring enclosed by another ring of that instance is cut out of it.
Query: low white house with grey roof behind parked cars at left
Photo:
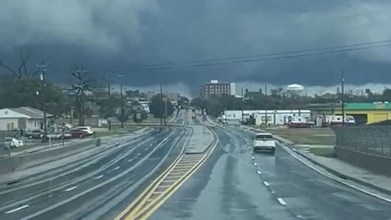
[[[47,118],[52,116],[46,113]],[[43,111],[30,107],[0,109],[0,131],[20,129],[43,129]]]

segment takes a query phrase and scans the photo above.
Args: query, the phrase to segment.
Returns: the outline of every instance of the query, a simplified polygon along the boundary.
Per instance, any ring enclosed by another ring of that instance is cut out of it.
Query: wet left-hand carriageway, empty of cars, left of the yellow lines
[[[0,219],[112,219],[172,163],[189,134],[185,128],[157,129],[77,166],[55,168],[51,176],[0,189]]]

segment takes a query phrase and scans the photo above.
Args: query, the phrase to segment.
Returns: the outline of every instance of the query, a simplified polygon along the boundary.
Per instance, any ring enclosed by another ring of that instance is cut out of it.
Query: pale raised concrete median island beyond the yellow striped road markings
[[[213,133],[205,126],[192,125],[193,135],[190,137],[190,144],[186,154],[203,154],[215,139]]]

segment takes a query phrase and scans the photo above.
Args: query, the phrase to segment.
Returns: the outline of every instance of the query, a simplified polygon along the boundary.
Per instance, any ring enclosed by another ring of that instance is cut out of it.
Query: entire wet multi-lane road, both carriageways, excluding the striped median
[[[200,123],[186,111],[170,122]],[[280,145],[274,155],[254,154],[251,132],[209,129],[217,144],[208,159],[148,219],[391,219],[390,203],[317,173]],[[175,161],[190,135],[184,126],[156,128],[1,188],[0,219],[114,219]]]

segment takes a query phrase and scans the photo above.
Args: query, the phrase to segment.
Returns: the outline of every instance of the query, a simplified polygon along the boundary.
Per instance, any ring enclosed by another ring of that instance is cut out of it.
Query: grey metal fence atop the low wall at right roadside
[[[391,158],[391,126],[332,127],[336,146]]]

